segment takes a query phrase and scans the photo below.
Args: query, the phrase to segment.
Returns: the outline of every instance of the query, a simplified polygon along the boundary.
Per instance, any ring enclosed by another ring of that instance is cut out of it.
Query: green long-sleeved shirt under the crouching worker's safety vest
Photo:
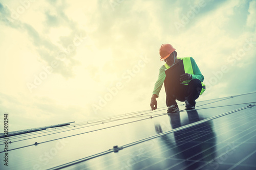
[[[192,68],[193,68],[193,74],[191,74],[192,75],[191,80],[199,79],[201,82],[203,82],[204,76],[201,74],[201,71],[198,68],[196,61],[192,57],[190,57],[190,61],[191,61]],[[165,70],[166,70],[166,67],[164,65],[162,65],[161,68],[159,69],[158,79],[157,79],[157,82],[155,83],[155,87],[153,90],[153,94],[156,94],[157,97],[159,96],[159,92],[163,86],[163,83],[164,83],[164,80],[166,77]]]

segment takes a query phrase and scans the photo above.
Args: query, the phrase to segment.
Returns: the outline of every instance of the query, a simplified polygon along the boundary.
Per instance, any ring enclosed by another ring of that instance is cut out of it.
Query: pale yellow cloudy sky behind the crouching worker
[[[0,126],[150,110],[163,43],[195,59],[198,101],[255,92],[255,18],[246,0],[0,0]]]

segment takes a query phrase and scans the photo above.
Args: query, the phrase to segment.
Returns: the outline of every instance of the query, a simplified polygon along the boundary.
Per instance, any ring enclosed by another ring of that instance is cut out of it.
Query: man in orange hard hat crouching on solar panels
[[[180,83],[176,86],[168,86],[164,83],[166,93],[166,106],[168,107],[167,112],[179,111],[179,107],[176,100],[185,102],[186,110],[194,109],[196,106],[196,99],[205,90],[205,85],[202,83],[204,80],[197,63],[192,57],[177,58],[176,49],[171,44],[162,44],[159,50],[161,56],[160,61],[166,63],[160,68],[158,80],[155,83],[153,95],[151,98],[151,109],[157,109],[157,100],[159,92],[162,88],[163,83],[168,79],[165,75],[165,70],[172,67],[179,61],[183,60],[184,72],[180,76]]]

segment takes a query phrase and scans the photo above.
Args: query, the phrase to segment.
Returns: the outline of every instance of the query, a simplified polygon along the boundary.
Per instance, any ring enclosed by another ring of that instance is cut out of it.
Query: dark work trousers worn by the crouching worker
[[[166,93],[166,106],[177,104],[176,100],[180,102],[187,100],[190,105],[196,106],[196,99],[199,97],[202,84],[198,79],[191,80],[188,85],[168,85],[165,81],[164,88]]]

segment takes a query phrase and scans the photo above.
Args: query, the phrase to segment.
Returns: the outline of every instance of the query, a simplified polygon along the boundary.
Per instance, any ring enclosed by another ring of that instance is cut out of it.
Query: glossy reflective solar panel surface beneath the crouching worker
[[[9,136],[8,168],[255,169],[255,104],[249,93]]]

